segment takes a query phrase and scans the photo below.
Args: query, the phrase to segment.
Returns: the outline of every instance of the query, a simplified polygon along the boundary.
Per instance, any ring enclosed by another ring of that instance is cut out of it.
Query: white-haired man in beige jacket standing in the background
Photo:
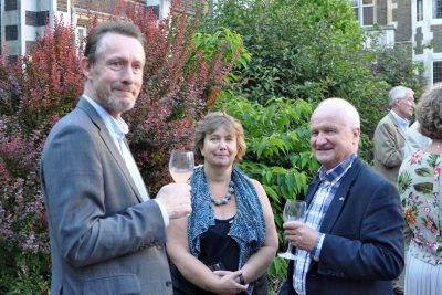
[[[389,105],[391,110],[375,130],[375,169],[397,185],[409,119],[415,106],[414,92],[403,86],[393,87],[389,93]]]

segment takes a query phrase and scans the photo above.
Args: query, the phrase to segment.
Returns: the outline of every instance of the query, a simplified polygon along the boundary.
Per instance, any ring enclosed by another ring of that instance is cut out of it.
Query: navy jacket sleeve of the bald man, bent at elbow
[[[366,209],[348,212],[354,215],[341,217],[340,232],[334,230],[325,235],[319,274],[350,280],[392,280],[401,273],[404,250],[399,194],[391,183],[383,181],[375,188],[369,183],[359,183],[350,191],[360,208]],[[345,229],[349,228],[356,230],[346,233]]]

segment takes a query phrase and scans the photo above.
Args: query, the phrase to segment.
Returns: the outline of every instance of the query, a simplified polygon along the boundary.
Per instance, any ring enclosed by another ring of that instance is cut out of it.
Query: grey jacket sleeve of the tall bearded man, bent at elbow
[[[119,194],[125,192],[122,187],[127,187],[125,179],[120,179],[118,171],[112,173],[115,176],[112,179],[104,177],[105,150],[95,141],[85,128],[75,125],[59,128],[41,161],[51,235],[61,254],[74,266],[166,241],[158,204],[152,200],[137,203],[134,197]]]

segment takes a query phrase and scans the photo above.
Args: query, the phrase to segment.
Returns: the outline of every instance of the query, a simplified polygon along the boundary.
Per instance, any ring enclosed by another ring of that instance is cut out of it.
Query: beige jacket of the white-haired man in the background
[[[391,113],[388,113],[376,127],[375,169],[397,185],[399,168],[403,161],[406,134]]]

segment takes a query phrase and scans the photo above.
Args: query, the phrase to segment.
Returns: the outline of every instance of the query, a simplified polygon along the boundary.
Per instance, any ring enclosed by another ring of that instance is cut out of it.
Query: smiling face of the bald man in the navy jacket
[[[359,128],[351,128],[337,108],[319,106],[311,119],[311,147],[315,158],[329,170],[358,149]]]

